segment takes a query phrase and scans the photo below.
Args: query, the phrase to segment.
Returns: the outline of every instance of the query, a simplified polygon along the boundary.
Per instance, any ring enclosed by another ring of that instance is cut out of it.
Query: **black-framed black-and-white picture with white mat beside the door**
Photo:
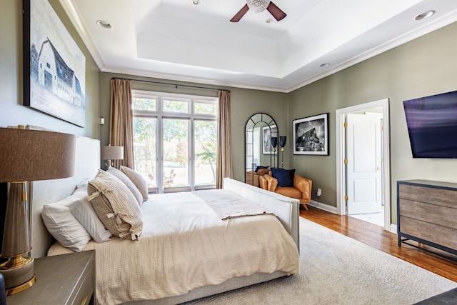
[[[293,154],[328,156],[328,113],[293,120]]]

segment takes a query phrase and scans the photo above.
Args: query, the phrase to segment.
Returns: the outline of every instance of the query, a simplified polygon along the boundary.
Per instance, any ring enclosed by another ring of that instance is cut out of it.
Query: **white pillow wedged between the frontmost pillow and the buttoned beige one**
[[[111,232],[105,229],[105,226],[99,219],[99,216],[94,211],[89,200],[87,200],[87,188],[76,189],[73,194],[84,194],[83,198],[78,201],[71,202],[68,205],[71,214],[79,221],[84,229],[91,234],[94,241],[102,243],[109,241]]]

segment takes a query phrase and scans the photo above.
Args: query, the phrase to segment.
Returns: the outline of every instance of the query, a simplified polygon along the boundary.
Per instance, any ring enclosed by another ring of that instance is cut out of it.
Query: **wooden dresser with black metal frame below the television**
[[[397,211],[398,246],[408,244],[456,261],[433,248],[457,255],[457,184],[397,181]]]

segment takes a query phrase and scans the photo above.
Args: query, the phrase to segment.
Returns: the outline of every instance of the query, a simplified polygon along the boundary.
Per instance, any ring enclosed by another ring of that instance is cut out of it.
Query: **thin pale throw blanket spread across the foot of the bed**
[[[252,201],[236,196],[225,189],[220,189],[217,192],[213,190],[195,191],[194,194],[203,199],[216,212],[217,216],[223,220],[241,216],[273,214]]]

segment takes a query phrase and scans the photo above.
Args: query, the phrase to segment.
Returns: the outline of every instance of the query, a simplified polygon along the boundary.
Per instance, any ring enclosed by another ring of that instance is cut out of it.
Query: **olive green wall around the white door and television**
[[[330,155],[291,156],[291,167],[313,179],[313,195],[321,188],[320,200],[336,206],[336,109],[386,98],[390,101],[392,222],[396,223],[396,181],[457,182],[456,160],[412,158],[402,104],[406,99],[457,90],[456,32],[457,23],[451,24],[288,94],[289,122],[330,113]]]

